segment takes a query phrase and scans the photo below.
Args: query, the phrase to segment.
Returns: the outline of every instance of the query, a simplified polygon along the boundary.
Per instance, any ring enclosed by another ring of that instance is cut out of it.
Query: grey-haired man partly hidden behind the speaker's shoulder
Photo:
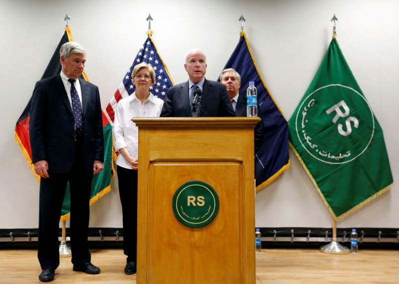
[[[241,76],[233,68],[224,69],[220,73],[220,82],[226,86],[228,96],[234,108],[235,115],[238,117],[246,117],[246,98],[239,95],[241,86]],[[259,106],[258,106],[259,108]],[[259,112],[258,112],[259,113]],[[263,142],[263,123],[259,121],[254,129],[255,153],[262,146]]]

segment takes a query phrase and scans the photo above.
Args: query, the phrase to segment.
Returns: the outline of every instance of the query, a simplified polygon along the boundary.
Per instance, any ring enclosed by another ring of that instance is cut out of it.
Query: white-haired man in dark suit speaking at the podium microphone
[[[201,50],[192,49],[187,53],[184,67],[189,81],[169,89],[161,116],[235,116],[225,86],[205,79],[206,66],[206,57]],[[200,89],[202,93],[201,106],[196,114],[192,111],[195,89]]]

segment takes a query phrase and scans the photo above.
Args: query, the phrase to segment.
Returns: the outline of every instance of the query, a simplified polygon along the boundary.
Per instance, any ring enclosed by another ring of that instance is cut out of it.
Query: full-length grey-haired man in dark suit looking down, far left
[[[104,136],[97,86],[79,78],[86,51],[76,42],[60,49],[61,73],[36,83],[30,108],[32,163],[40,178],[39,280],[54,279],[59,266],[58,228],[65,188],[71,192],[73,271],[99,274],[87,246],[94,174],[103,168]]]

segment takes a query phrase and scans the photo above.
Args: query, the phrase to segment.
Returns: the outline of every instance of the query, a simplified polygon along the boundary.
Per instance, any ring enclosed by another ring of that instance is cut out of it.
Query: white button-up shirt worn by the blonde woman
[[[164,101],[152,93],[143,104],[136,97],[136,92],[121,99],[116,107],[112,126],[115,151],[126,147],[132,157],[138,158],[139,128],[131,119],[133,117],[159,117],[163,105]],[[122,154],[118,155],[116,164],[126,169],[132,169]]]

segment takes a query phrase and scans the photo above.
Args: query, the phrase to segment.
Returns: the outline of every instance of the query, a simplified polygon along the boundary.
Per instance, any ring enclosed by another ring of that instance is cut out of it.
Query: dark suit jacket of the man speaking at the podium
[[[169,89],[161,116],[189,117],[190,115],[189,81],[187,81]],[[226,87],[223,84],[205,79],[198,116],[235,116]]]

